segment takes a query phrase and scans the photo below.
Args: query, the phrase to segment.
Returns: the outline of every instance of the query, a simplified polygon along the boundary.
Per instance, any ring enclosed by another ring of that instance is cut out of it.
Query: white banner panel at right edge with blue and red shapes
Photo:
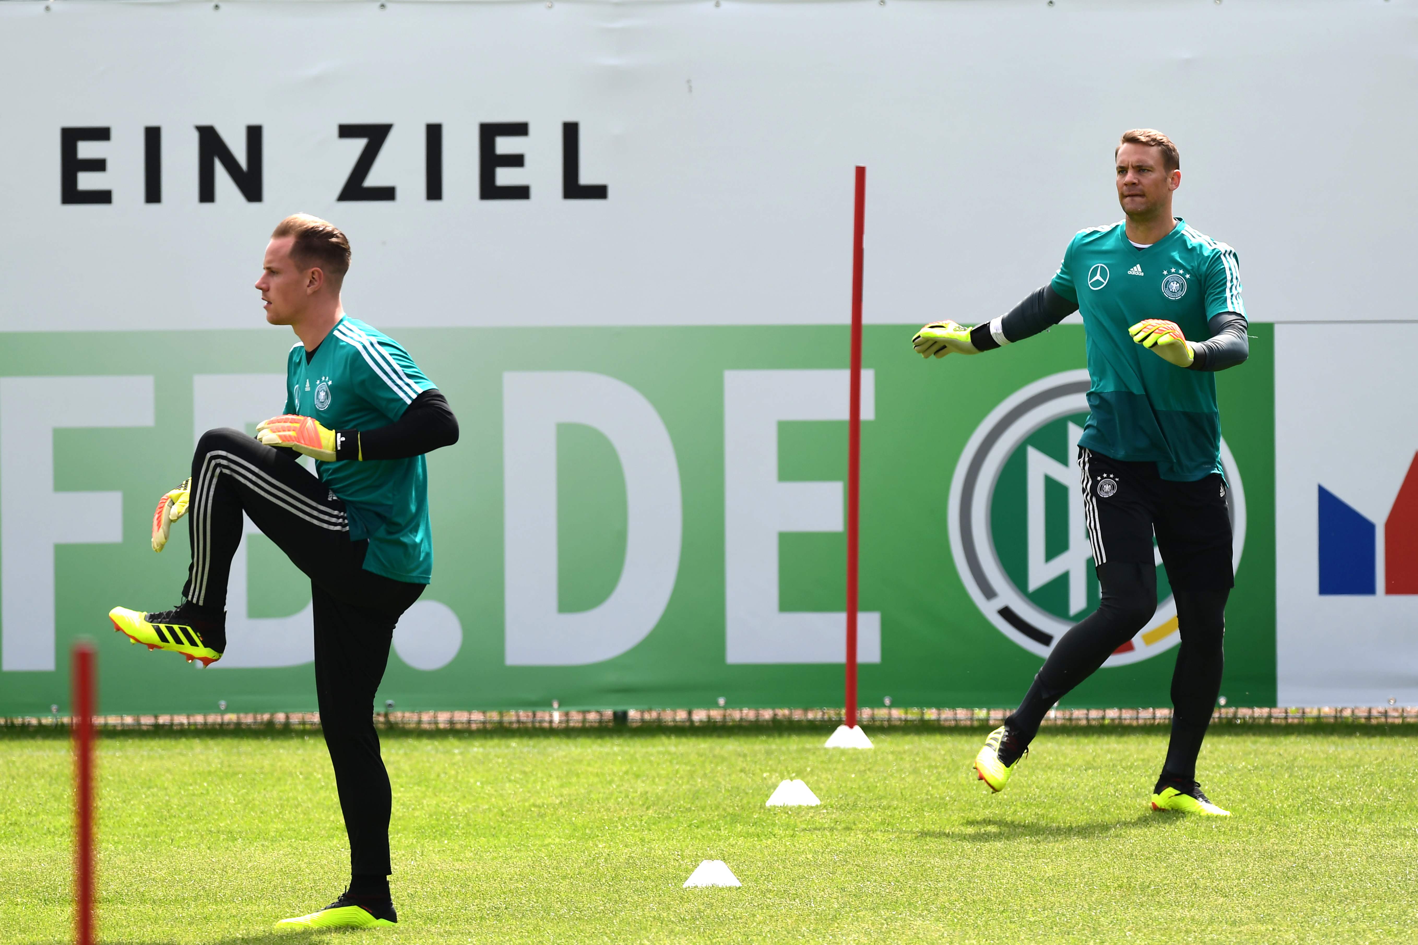
[[[1275,347],[1279,704],[1418,704],[1418,324]]]

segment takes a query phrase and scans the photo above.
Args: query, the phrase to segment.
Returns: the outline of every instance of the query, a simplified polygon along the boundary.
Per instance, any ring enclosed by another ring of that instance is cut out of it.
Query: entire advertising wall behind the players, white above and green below
[[[1402,541],[1375,537],[1371,577],[1353,554],[1366,521],[1407,521],[1401,436],[1370,460],[1380,426],[1350,422],[1402,368],[1343,361],[1306,387],[1333,349],[1285,341],[1295,323],[1405,317],[1408,224],[1357,225],[1371,183],[1354,167],[1374,142],[1418,145],[1415,16],[0,4],[0,714],[65,706],[79,635],[102,638],[106,711],[313,707],[309,589],[257,533],[211,669],[129,647],[104,619],[176,604],[186,531],[162,555],[147,531],[196,436],[281,409],[294,339],[264,326],[251,283],[295,211],[349,234],[349,312],[408,347],[462,426],[428,460],[434,582],[380,700],[835,704],[854,164],[862,700],[1012,704],[1096,605],[1072,477],[1082,329],[929,364],[908,341],[1000,315],[1073,232],[1116,220],[1113,146],[1136,126],[1178,142],[1176,210],[1236,248],[1252,319],[1251,361],[1217,378],[1238,534],[1224,694],[1418,700],[1391,589]],[[1126,78],[1137,37],[1150,60]],[[1384,188],[1418,201],[1411,176]],[[1333,426],[1305,439],[1288,404]],[[1296,582],[1279,592],[1278,534]],[[1160,577],[1157,616],[1066,704],[1167,703],[1184,628]]]

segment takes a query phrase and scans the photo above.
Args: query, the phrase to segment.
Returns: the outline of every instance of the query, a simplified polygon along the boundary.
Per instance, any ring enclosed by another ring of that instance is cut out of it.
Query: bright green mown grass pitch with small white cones
[[[986,731],[384,732],[400,927],[339,942],[1418,941],[1418,741],[1217,725],[1147,809],[1166,730],[1045,730],[1008,791]],[[318,732],[99,742],[105,942],[301,942],[347,851]],[[69,939],[69,755],[0,737],[0,941]],[[767,809],[783,778],[821,808]],[[685,890],[705,859],[742,888]]]

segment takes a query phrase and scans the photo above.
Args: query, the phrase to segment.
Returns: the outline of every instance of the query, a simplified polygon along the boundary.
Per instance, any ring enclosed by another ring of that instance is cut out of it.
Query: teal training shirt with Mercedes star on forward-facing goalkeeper
[[[1088,334],[1092,387],[1079,446],[1124,462],[1154,462],[1163,479],[1176,482],[1221,472],[1215,374],[1164,361],[1127,329],[1167,319],[1188,339],[1205,340],[1214,316],[1245,316],[1235,249],[1181,218],[1139,249],[1119,221],[1076,234],[1052,288],[1078,302]]]

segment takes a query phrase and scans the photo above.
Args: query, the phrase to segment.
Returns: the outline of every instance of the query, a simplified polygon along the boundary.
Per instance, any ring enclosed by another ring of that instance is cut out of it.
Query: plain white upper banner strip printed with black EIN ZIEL
[[[261,324],[350,234],[386,329],[993,316],[1178,142],[1256,320],[1407,317],[1412,3],[0,4],[0,330]],[[65,130],[68,129],[68,130]],[[1381,183],[1375,184],[1375,174]],[[342,200],[342,196],[345,200]],[[65,203],[68,201],[68,203]],[[92,203],[102,201],[102,203]]]

